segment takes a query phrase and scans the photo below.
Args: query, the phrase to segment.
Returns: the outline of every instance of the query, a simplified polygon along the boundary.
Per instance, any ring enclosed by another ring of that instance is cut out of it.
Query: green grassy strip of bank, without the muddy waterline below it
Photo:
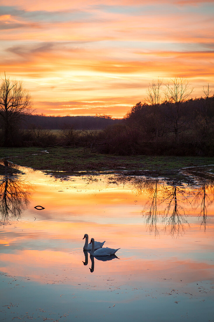
[[[47,150],[47,151],[45,151]],[[48,152],[48,153],[47,153]],[[52,171],[150,170],[157,174],[190,166],[214,164],[213,157],[113,156],[93,154],[82,148],[0,148],[0,157],[20,166]]]

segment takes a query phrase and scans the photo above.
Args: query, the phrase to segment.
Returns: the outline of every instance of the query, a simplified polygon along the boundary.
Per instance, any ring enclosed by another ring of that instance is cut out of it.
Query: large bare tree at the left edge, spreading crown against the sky
[[[3,145],[13,145],[21,121],[31,112],[31,96],[21,81],[1,77],[0,86],[0,122],[3,131]]]

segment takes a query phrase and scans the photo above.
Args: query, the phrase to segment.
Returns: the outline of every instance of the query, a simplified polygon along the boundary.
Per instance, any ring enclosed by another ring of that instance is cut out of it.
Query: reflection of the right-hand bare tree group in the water
[[[111,178],[112,179],[112,178]],[[199,180],[194,187],[185,185],[171,185],[157,178],[117,177],[123,185],[129,185],[136,195],[148,194],[142,215],[146,217],[146,224],[151,234],[158,236],[160,231],[168,232],[172,237],[184,233],[189,223],[185,216],[185,209],[197,211],[200,205],[202,217],[200,228],[206,231],[207,208],[214,201],[214,184],[205,179]],[[161,225],[164,228],[161,229]],[[158,227],[160,227],[158,229]]]

